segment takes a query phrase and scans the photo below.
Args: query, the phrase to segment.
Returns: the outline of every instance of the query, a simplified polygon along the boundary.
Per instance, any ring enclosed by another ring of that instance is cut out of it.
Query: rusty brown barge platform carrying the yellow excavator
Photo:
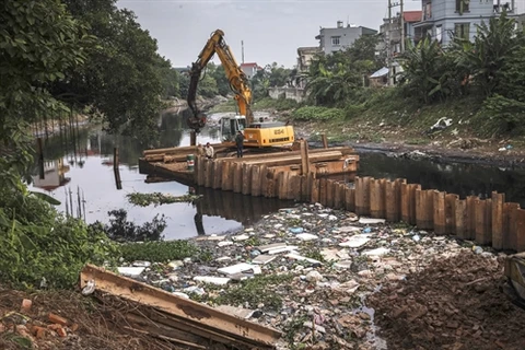
[[[359,167],[359,155],[352,148],[308,150],[304,140],[272,150],[250,149],[252,153],[243,158],[236,158],[233,144],[228,142],[212,147],[212,160],[201,155],[202,150],[196,145],[145,150],[139,159],[139,172],[148,175],[145,182],[176,180],[187,186],[281,198],[273,184],[280,177],[342,176],[352,182]],[[293,199],[292,194],[288,197]]]

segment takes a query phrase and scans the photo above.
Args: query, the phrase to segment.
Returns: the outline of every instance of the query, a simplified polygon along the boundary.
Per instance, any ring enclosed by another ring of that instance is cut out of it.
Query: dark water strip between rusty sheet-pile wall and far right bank
[[[438,163],[428,160],[407,160],[380,153],[360,153],[359,176],[407,178],[423,189],[450,194],[490,197],[493,190],[504,192],[506,201],[525,208],[525,170],[505,170],[488,165]]]

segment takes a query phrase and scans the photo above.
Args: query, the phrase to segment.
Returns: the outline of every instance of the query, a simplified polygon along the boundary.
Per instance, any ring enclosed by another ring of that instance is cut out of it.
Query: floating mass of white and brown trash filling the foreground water
[[[366,304],[370,295],[402,284],[435,259],[493,258],[472,243],[462,246],[318,203],[280,209],[241,232],[192,241],[198,258],[135,261],[119,272],[277,328],[283,332],[278,349],[386,349]]]

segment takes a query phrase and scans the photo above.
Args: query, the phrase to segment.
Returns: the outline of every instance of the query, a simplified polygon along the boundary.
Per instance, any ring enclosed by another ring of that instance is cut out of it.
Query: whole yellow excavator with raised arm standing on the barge
[[[291,144],[294,142],[293,127],[280,121],[255,121],[252,112],[252,89],[249,81],[233,57],[230,47],[224,40],[224,33],[217,30],[206,43],[196,62],[191,63],[189,71],[190,82],[187,102],[192,116],[187,119],[188,126],[196,132],[205,127],[207,116],[197,106],[197,86],[202,70],[217,52],[230,82],[230,89],[234,93],[238,114],[223,117],[220,120],[221,137],[223,142],[232,142],[237,131],[244,133],[244,145],[254,148],[270,148],[276,145]]]

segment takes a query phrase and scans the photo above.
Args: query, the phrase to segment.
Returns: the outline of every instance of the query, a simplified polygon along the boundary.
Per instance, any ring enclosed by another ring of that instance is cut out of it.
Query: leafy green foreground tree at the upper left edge
[[[3,3],[0,11],[0,186],[25,191],[32,163],[28,122],[67,107],[49,84],[84,62],[94,38],[58,0]]]

